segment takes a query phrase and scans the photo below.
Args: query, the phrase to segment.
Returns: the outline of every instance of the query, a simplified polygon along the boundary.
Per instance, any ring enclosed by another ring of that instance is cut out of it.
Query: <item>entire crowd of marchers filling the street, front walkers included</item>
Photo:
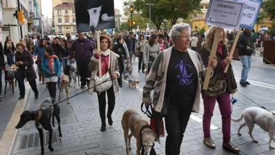
[[[89,93],[97,93],[102,121],[101,131],[104,132],[106,130],[106,94],[108,97],[107,119],[111,126],[115,97],[119,92],[119,87],[123,87],[122,77],[130,76],[126,72],[126,66],[132,64],[133,59],[138,58],[138,72],[148,74],[143,87],[143,102],[153,104],[154,110],[165,118],[168,133],[166,154],[180,153],[183,134],[191,112],[199,112],[200,95],[202,95],[204,107],[203,142],[205,145],[215,148],[210,134],[210,122],[217,101],[222,114],[222,147],[230,152],[239,152],[240,149],[230,143],[230,94],[236,92],[237,84],[230,65],[232,57],[228,55],[227,43],[234,39],[234,33],[226,33],[222,30],[216,57],[209,58],[216,30],[215,27],[211,27],[206,35],[191,34],[190,25],[180,23],[174,25],[169,32],[156,31],[150,34],[150,37],[143,33],[133,32],[102,34],[99,40],[100,50],[96,49],[96,37],[87,39],[84,33],[78,33],[76,40],[59,37],[53,40],[41,37],[37,39],[33,36],[33,38],[20,39],[20,42],[15,45],[8,36],[4,47],[2,43],[0,44],[0,65],[5,67],[3,56],[5,54],[7,65],[18,66],[16,80],[20,91],[19,99],[23,99],[25,79],[29,82],[35,98],[38,98],[37,75],[33,68],[33,64],[36,63],[39,81],[42,84],[46,83],[49,96],[56,98],[62,68],[64,72],[67,65],[76,62],[81,88],[92,88]],[[251,37],[251,35],[255,34],[245,29],[237,46],[243,67],[240,80],[242,86],[249,85],[247,76],[251,66],[251,55],[260,42],[253,44],[255,40],[260,39],[257,36]],[[33,56],[37,57],[35,62]],[[99,60],[101,66],[98,63]],[[227,65],[229,65],[229,70],[223,73]],[[208,90],[201,91],[207,67],[212,67],[214,70]],[[100,75],[112,79],[111,82],[104,87],[93,88],[100,79],[98,78]],[[153,101],[150,96],[152,90],[154,90]]]

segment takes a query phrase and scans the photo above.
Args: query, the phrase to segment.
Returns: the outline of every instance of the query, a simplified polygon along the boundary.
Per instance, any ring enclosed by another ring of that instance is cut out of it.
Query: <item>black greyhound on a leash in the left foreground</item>
[[[36,111],[24,111],[20,116],[20,121],[15,127],[19,129],[23,127],[28,121],[35,121],[35,126],[39,132],[40,145],[41,145],[41,155],[44,155],[44,141],[43,141],[43,129],[49,131],[49,145],[50,151],[53,151],[52,147],[52,136],[53,129],[51,126],[51,116],[53,116],[53,127],[54,127],[54,116],[58,122],[59,138],[62,138],[61,127],[60,127],[60,107],[58,105],[51,106],[55,103],[55,99],[46,98],[40,105],[40,109]],[[51,106],[43,109],[43,107]]]

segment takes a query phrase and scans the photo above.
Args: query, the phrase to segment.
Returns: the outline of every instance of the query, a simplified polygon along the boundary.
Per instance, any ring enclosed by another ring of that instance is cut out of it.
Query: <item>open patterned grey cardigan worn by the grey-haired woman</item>
[[[163,52],[159,53],[157,58],[155,59],[150,73],[147,76],[146,83],[143,87],[143,102],[152,102],[154,105],[154,110],[162,113],[163,115],[167,114],[167,105],[168,103],[164,103],[165,95],[165,87],[166,87],[166,77],[167,77],[167,69],[169,60],[171,58],[173,46],[163,50]],[[201,76],[205,73],[205,68],[202,63],[202,59],[200,55],[191,49],[187,49],[187,52],[194,63],[197,69],[198,81],[197,81],[197,90],[196,97],[194,100],[194,106],[192,111],[199,112],[200,108],[200,91],[201,91]],[[154,90],[153,101],[151,99],[151,91]]]

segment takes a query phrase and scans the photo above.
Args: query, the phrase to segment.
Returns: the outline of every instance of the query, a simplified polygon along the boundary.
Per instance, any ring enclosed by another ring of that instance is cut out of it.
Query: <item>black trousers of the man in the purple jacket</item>
[[[91,73],[89,71],[90,61],[91,60],[76,62],[80,76],[81,86],[85,86],[86,84],[88,84],[88,80],[86,78],[91,77]]]

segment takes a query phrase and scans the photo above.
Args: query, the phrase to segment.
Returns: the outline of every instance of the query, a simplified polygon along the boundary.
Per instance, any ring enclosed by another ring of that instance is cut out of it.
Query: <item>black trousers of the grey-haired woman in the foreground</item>
[[[193,102],[169,103],[168,116],[165,117],[165,128],[168,133],[165,142],[166,155],[179,155]]]

